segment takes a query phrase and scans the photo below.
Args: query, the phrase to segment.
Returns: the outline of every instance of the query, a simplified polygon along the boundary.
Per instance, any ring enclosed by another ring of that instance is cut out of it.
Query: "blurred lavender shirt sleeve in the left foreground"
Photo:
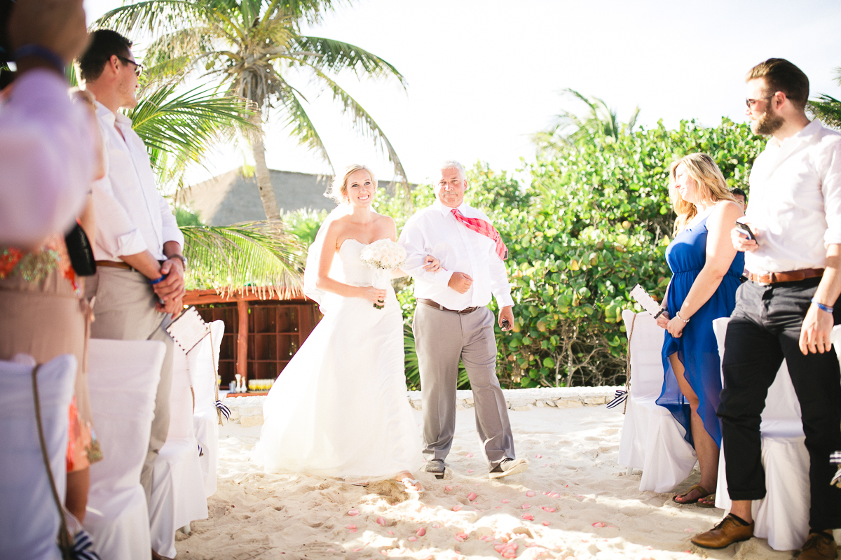
[[[66,233],[91,188],[94,137],[55,71],[31,70],[0,104],[0,244]]]

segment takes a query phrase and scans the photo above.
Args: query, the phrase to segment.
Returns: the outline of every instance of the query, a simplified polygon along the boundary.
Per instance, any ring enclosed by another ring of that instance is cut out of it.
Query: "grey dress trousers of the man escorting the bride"
[[[476,432],[489,467],[516,458],[508,406],[496,378],[494,313],[479,307],[460,315],[418,303],[415,307],[415,349],[421,367],[424,457],[443,459],[450,453],[456,428],[456,384],[461,359],[473,388]]]

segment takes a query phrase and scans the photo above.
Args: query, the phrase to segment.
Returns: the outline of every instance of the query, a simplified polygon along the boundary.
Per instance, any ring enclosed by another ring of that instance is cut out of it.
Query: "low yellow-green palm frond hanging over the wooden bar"
[[[301,289],[304,248],[275,222],[183,226],[188,289],[267,290],[294,296]]]

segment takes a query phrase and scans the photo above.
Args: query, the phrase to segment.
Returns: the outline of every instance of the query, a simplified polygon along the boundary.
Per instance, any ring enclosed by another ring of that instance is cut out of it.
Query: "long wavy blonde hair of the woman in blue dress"
[[[696,217],[698,209],[691,202],[685,201],[680,192],[674,186],[678,166],[683,164],[689,176],[695,180],[698,197],[707,205],[717,201],[736,201],[736,198],[727,188],[727,181],[724,180],[722,170],[707,154],[686,154],[680,160],[674,161],[669,170],[669,196],[672,199],[672,208],[678,215],[674,220],[674,235],[677,235],[686,228],[686,224],[693,217]]]

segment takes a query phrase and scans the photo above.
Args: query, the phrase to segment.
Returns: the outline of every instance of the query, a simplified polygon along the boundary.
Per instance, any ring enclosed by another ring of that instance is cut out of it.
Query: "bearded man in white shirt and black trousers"
[[[830,342],[841,322],[841,134],[809,122],[809,80],[788,60],[770,59],[746,78],[754,133],[770,135],[750,172],[746,215],[755,239],[733,229],[748,281],[727,326],[718,416],[727,459],[730,514],[696,545],[723,548],[753,536],[751,500],[765,496],[760,415],[788,367],[811,459],[809,536],[800,560],[835,558],[841,489],[829,456],[841,449],[841,372]]]

